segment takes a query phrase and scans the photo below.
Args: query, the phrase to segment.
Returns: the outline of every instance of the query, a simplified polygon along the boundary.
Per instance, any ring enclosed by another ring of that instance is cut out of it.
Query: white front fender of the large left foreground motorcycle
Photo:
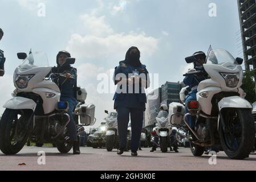
[[[5,105],[3,105],[6,109],[31,109],[35,111],[36,103],[25,97],[14,97],[11,100],[7,101]]]

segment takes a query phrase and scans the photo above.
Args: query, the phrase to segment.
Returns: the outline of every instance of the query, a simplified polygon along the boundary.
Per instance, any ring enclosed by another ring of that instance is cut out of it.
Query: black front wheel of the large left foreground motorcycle
[[[27,127],[31,114],[31,110],[5,110],[0,120],[0,150],[4,154],[17,154],[25,146],[31,129]]]

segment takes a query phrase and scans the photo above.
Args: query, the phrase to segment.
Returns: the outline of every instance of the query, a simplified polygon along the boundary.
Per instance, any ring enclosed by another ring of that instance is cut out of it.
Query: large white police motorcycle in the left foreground
[[[17,53],[17,56],[23,61],[14,71],[16,89],[12,93],[13,98],[3,105],[6,109],[0,120],[0,150],[6,155],[17,154],[27,139],[35,136],[39,143],[51,142],[59,152],[69,152],[72,143],[68,140],[66,127],[70,122],[66,113],[68,102],[60,102],[60,90],[51,79],[64,75],[52,73],[46,77],[52,67],[48,66],[43,52],[30,52],[29,56]],[[66,61],[75,63],[74,58],[67,58]],[[80,97],[84,97],[82,95]],[[79,105],[77,109],[80,122],[94,124],[94,107]],[[79,131],[82,130],[79,128]]]

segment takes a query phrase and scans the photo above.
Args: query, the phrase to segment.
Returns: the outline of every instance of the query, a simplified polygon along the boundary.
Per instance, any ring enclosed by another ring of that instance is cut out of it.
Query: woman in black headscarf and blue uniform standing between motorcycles
[[[148,71],[140,62],[140,51],[137,47],[128,49],[125,60],[120,61],[119,66],[115,68],[113,81],[117,85],[113,97],[120,141],[117,154],[123,154],[127,146],[127,127],[131,114],[131,151],[133,156],[137,156],[143,127],[143,113],[147,102],[144,88],[148,88],[150,84]]]

